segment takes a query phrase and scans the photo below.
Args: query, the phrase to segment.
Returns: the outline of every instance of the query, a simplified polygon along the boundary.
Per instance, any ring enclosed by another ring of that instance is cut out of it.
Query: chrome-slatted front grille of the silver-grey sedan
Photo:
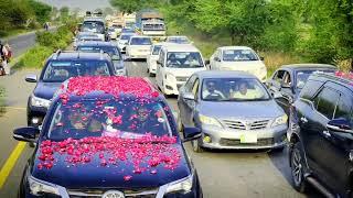
[[[260,130],[267,128],[269,120],[257,120],[245,124],[242,121],[222,120],[222,123],[229,129],[235,130]]]

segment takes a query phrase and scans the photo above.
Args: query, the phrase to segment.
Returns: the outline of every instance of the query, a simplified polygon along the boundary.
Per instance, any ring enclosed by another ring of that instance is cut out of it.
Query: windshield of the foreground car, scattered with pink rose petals
[[[47,138],[117,136],[137,139],[146,134],[169,135],[171,130],[163,106],[136,99],[104,99],[58,103]]]

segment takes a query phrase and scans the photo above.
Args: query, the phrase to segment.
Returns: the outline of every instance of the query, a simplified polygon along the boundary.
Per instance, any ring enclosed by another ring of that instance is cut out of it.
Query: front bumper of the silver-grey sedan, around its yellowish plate
[[[244,143],[240,136],[256,134],[256,143]],[[202,139],[200,143],[203,147],[222,150],[260,150],[277,148],[287,144],[287,125],[266,128],[261,130],[231,130],[220,129],[212,125],[202,127]],[[211,142],[204,141],[205,136],[211,138]]]

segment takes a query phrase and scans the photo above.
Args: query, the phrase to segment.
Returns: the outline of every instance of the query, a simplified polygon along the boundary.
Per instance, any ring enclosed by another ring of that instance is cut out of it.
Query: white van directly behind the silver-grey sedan
[[[195,46],[164,45],[157,61],[157,85],[164,95],[179,95],[179,88],[191,75],[200,70],[206,70],[206,66]]]

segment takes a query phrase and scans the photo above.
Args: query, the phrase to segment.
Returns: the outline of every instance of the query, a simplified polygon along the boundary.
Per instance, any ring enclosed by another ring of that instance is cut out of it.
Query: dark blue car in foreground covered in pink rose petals
[[[185,128],[181,140],[171,108],[149,82],[77,77],[67,84],[41,131],[14,130],[25,142],[40,133],[19,197],[202,197],[182,144],[200,130]]]

